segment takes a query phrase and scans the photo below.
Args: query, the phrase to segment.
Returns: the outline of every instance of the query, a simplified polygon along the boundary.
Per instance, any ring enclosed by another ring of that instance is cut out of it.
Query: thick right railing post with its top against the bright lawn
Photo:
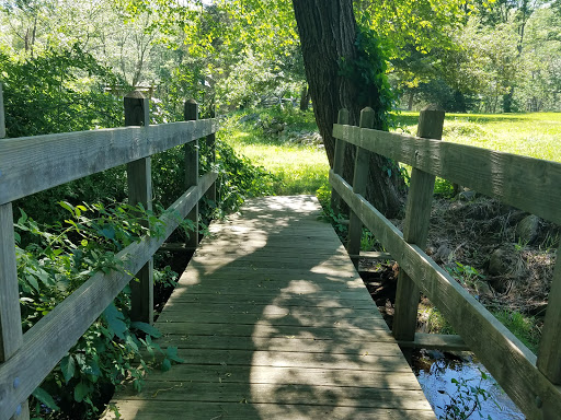
[[[431,105],[419,116],[417,137],[440,140],[443,137],[444,110],[431,109]],[[421,248],[426,246],[428,224],[433,205],[435,176],[413,167],[405,208],[403,238]],[[397,340],[415,339],[420,290],[411,278],[400,270],[393,316],[393,337]]]

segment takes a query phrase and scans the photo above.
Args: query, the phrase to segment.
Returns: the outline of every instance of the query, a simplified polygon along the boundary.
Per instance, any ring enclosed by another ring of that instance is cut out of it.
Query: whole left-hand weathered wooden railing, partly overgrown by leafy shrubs
[[[1,85],[0,85],[0,104]],[[131,317],[152,322],[154,253],[188,214],[198,220],[203,195],[214,197],[217,174],[198,176],[197,141],[214,141],[216,119],[197,120],[197,104],[185,103],[188,121],[149,126],[148,100],[125,98],[126,128],[0,140],[0,420],[28,419],[26,398],[137,273]],[[0,133],[3,114],[0,108]],[[127,164],[129,202],[151,207],[150,156],[185,147],[186,191],[162,217],[165,232],[145,236],[116,257],[122,271],[98,272],[22,334],[12,201],[73,179]],[[210,150],[214,145],[210,144]],[[210,158],[213,159],[213,158]],[[192,240],[196,245],[196,238]]]

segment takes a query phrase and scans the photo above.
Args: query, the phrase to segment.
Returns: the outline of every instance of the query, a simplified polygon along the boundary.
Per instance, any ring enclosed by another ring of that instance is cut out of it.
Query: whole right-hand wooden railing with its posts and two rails
[[[402,345],[430,341],[415,337],[422,291],[528,419],[561,419],[560,252],[537,357],[424,253],[435,176],[561,224],[561,164],[439,141],[444,112],[422,112],[419,137],[370,129],[371,113],[363,110],[360,127],[346,125],[348,113],[340,113],[330,183],[334,200],[343,199],[351,209],[350,254],[358,254],[364,224],[399,262],[394,337]],[[345,143],[356,147],[352,186],[341,176]],[[403,233],[364,197],[369,153],[413,168]]]

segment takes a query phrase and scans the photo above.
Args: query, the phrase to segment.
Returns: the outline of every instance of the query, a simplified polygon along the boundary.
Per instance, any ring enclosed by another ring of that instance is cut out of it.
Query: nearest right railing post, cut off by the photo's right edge
[[[561,385],[561,246],[557,250],[546,319],[538,352],[538,369],[553,384]]]

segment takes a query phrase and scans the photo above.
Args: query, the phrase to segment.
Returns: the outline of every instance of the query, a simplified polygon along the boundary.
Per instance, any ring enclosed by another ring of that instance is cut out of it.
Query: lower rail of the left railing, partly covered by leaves
[[[162,236],[145,237],[116,255],[123,261],[123,272],[92,276],[23,336],[22,348],[0,365],[0,420],[7,420],[7,413],[15,412],[19,401],[27,398],[43,382],[130,281],[130,272],[140,270],[152,257],[215,179],[216,174],[205,175],[197,187],[190,188],[168,209],[162,215],[165,223]],[[21,381],[18,388],[12,386],[15,377]]]

